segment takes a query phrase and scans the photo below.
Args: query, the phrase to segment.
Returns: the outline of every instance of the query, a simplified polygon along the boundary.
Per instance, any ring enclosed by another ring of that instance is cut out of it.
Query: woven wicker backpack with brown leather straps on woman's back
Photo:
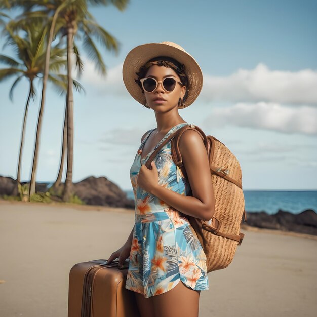
[[[215,212],[208,222],[181,212],[180,215],[189,220],[190,229],[199,239],[206,254],[207,272],[211,272],[226,268],[232,262],[236,247],[241,245],[244,237],[244,233],[240,232],[242,220],[247,221],[242,172],[239,161],[222,142],[211,135],[206,136],[199,127],[191,124],[178,129],[162,142],[147,160],[147,168],[150,168],[156,153],[171,139],[173,161],[187,178],[178,147],[179,139],[187,129],[196,130],[204,141],[209,157]],[[189,195],[191,194],[190,191]]]

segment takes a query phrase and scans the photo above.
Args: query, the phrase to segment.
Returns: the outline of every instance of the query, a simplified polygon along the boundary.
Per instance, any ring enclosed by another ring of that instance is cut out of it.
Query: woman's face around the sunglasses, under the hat
[[[180,81],[178,74],[172,68],[159,65],[151,66],[145,75],[145,78],[147,77],[155,78],[158,82],[163,81],[165,77],[173,77],[176,81]],[[186,87],[181,84],[176,83],[176,88],[172,92],[168,92],[163,89],[162,83],[159,83],[153,92],[144,91],[144,94],[147,105],[155,111],[160,111],[177,107],[179,98],[183,99],[185,92]],[[162,97],[166,101],[155,101],[157,97]]]

